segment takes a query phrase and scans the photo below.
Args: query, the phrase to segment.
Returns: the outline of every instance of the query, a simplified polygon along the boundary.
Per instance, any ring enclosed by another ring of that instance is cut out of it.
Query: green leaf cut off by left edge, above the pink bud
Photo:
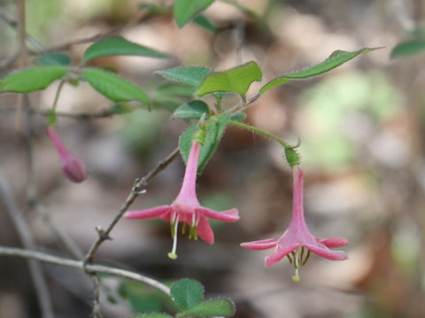
[[[38,66],[13,72],[0,81],[0,93],[30,93],[48,87],[68,72],[65,66]]]

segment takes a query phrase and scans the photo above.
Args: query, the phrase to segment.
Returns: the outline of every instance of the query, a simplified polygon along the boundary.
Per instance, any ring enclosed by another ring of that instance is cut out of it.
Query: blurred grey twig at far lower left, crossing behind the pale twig
[[[22,212],[18,208],[16,201],[13,198],[10,186],[8,185],[6,179],[4,178],[3,171],[0,169],[0,198],[3,199],[6,210],[9,213],[9,216],[12,220],[13,225],[18,231],[19,239],[22,242],[22,245],[27,249],[32,249],[34,247],[33,238],[31,237],[31,231],[28,228],[27,222],[22,215]],[[36,295],[40,302],[40,307],[42,309],[43,318],[53,318],[54,314],[51,309],[51,302],[49,297],[49,290],[47,284],[43,279],[42,268],[40,263],[37,261],[28,261],[29,271],[31,273],[31,278],[35,285]]]

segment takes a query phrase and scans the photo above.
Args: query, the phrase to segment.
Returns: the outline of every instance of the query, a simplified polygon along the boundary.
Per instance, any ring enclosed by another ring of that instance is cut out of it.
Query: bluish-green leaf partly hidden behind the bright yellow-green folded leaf
[[[212,72],[212,69],[203,66],[183,66],[154,72],[154,74],[160,75],[176,83],[198,87],[205,79],[205,76]]]

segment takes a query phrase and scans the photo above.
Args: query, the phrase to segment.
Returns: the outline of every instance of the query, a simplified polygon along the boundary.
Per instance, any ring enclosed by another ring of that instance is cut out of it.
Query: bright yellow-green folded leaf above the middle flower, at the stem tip
[[[244,96],[251,83],[261,80],[259,64],[249,62],[225,72],[216,72],[207,76],[197,89],[197,95],[213,92],[236,92]]]

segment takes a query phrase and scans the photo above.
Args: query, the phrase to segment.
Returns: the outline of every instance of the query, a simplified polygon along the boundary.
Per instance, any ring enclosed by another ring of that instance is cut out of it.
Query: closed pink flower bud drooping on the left
[[[47,133],[49,134],[50,140],[58,150],[60,163],[66,178],[69,178],[71,181],[76,183],[84,181],[87,178],[86,165],[78,156],[73,155],[65,148],[53,127],[48,127]]]

